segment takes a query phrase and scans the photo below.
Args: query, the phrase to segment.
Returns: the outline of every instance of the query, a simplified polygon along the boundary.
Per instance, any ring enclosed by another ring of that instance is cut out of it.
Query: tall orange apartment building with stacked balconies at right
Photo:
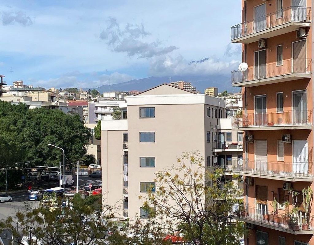
[[[246,184],[235,216],[248,227],[246,245],[313,245],[314,204],[308,214],[302,204],[302,189],[314,189],[312,3],[241,3],[231,41],[242,44],[248,68],[231,72],[231,82],[242,87],[243,116],[233,127],[245,143],[233,170]]]

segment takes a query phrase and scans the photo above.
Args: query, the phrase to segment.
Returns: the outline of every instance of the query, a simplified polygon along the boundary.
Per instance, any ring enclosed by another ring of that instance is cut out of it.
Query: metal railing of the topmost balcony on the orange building
[[[231,27],[231,40],[289,22],[311,22],[311,7],[290,6]]]

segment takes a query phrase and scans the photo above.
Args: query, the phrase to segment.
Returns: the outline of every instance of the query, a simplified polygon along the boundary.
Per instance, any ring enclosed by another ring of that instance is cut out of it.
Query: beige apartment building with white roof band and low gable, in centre
[[[138,196],[182,152],[198,150],[204,166],[213,166],[219,118],[225,117],[224,100],[169,84],[126,101],[120,107],[127,119],[101,121],[103,202],[121,206],[117,220],[147,217]]]

